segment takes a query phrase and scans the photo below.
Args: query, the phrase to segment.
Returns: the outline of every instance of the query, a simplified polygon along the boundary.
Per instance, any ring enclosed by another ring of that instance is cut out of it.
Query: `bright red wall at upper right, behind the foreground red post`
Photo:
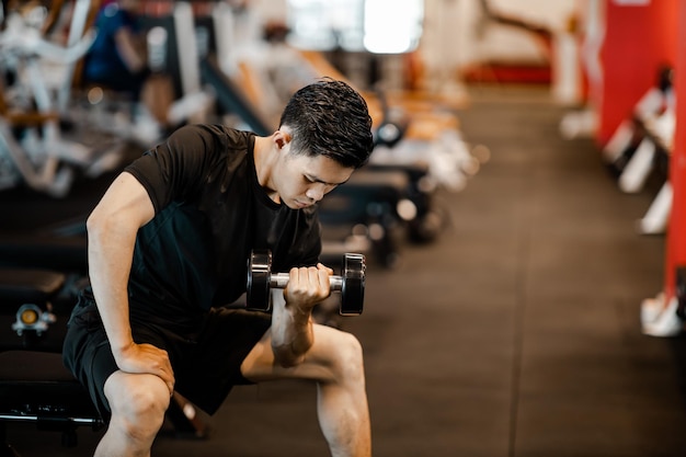
[[[602,145],[654,85],[659,67],[675,64],[682,3],[682,0],[651,0],[645,5],[620,5],[606,0],[597,137]]]

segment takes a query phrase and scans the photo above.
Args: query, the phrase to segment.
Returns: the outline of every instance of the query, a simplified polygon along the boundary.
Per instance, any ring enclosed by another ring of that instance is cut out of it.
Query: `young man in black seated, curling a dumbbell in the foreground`
[[[88,219],[91,286],[65,364],[110,416],[96,456],[149,456],[174,390],[214,413],[231,386],[318,384],[333,456],[369,456],[362,347],[315,324],[330,294],[316,204],[373,149],[362,96],[324,79],[300,89],[270,137],[186,126],[115,179]],[[245,292],[251,250],[289,271],[271,313],[222,305]]]

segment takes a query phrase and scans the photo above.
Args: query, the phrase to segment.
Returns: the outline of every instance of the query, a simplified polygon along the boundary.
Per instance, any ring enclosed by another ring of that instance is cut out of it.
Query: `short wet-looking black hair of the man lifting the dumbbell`
[[[367,103],[347,83],[331,78],[298,90],[279,125],[290,130],[296,153],[325,156],[343,167],[363,167],[374,149]]]

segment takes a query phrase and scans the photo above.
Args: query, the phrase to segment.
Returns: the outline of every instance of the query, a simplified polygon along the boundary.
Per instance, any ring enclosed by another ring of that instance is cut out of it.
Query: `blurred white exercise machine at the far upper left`
[[[0,32],[0,190],[25,184],[64,197],[78,173],[95,176],[117,163],[121,141],[99,138],[89,146],[71,140],[62,123],[61,103],[70,96],[73,68],[94,36],[87,27],[91,7],[90,0],[75,1],[66,45],[43,35],[43,7],[11,10],[5,18]],[[57,75],[55,81],[49,75]]]

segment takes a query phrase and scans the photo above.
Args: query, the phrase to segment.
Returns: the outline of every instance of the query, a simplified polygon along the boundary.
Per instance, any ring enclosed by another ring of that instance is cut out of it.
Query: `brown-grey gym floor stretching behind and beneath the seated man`
[[[665,274],[664,237],[634,230],[658,183],[622,194],[591,139],[560,137],[567,110],[546,91],[470,92],[461,129],[491,160],[439,195],[435,242],[369,269],[365,312],[344,321],[365,347],[375,456],[686,455],[685,340],[639,324]],[[102,190],[37,197],[39,217],[76,217]],[[0,195],[4,229],[32,217],[18,194]],[[305,382],[236,388],[201,415],[209,438],[163,433],[153,455],[328,455],[315,400]],[[89,456],[101,433],[71,449],[30,424],[8,437],[24,457]]]

